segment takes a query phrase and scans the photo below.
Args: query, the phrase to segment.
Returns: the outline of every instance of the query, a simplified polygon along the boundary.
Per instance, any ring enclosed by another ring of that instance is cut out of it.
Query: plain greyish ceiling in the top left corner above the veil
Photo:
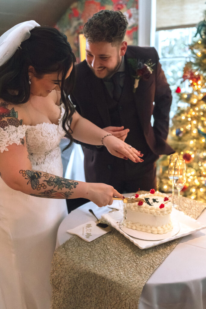
[[[75,0],[0,0],[0,36],[27,20],[54,26]]]

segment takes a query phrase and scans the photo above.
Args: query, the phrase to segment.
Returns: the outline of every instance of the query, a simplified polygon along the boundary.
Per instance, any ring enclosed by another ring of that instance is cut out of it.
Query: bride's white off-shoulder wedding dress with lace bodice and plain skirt
[[[61,107],[61,116],[64,109]],[[61,125],[0,128],[0,151],[26,136],[33,170],[62,176]],[[9,188],[0,177],[0,308],[49,309],[51,262],[66,201],[33,197]]]

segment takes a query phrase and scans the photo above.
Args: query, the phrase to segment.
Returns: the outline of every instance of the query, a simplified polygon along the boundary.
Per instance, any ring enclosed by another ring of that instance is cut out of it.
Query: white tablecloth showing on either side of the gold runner
[[[111,211],[89,202],[73,210],[61,223],[57,247],[73,235],[67,233],[84,222]],[[206,223],[206,210],[198,221]],[[129,309],[129,308],[125,308]],[[206,229],[183,237],[146,282],[138,309],[206,309]]]

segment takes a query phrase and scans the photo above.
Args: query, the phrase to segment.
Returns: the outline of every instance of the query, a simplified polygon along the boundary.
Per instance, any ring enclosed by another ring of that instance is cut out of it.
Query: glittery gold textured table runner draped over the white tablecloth
[[[180,210],[194,219],[205,208],[181,197]],[[113,228],[90,243],[74,235],[54,253],[51,309],[137,309],[145,282],[179,241],[141,250]]]

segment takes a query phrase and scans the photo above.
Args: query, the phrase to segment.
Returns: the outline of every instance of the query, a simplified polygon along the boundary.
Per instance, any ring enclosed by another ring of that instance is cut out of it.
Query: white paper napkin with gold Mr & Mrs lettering
[[[74,234],[80,238],[90,242],[99,236],[102,236],[111,231],[110,226],[105,229],[96,225],[94,221],[88,221],[82,225],[76,226],[74,229],[68,230],[69,234]]]

